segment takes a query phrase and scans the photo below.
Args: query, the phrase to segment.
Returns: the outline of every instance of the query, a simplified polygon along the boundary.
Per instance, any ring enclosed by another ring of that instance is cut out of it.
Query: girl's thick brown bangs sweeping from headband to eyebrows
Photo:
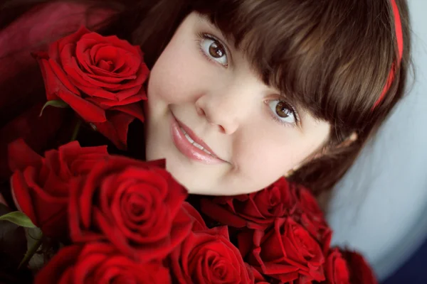
[[[391,68],[384,1],[218,0],[196,11],[233,39],[265,84],[351,130],[369,118]]]

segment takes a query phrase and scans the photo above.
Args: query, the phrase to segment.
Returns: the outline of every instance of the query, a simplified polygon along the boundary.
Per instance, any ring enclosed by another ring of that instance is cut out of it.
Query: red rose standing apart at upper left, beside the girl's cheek
[[[142,84],[149,70],[139,46],[82,27],[35,56],[47,99],[62,99],[117,147],[125,148],[130,122],[144,120],[139,102],[146,99]]]

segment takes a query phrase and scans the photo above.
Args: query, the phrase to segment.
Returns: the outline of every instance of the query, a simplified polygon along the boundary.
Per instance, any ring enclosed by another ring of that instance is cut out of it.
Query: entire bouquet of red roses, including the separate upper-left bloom
[[[126,148],[127,126],[143,119],[137,102],[146,98],[139,48],[82,28],[36,58],[46,106],[72,108]],[[11,143],[19,212],[0,219],[42,233],[21,268],[43,254],[34,269],[40,284],[376,283],[362,256],[330,247],[332,231],[304,187],[281,178],[248,195],[189,198],[166,162],[78,141],[43,156],[23,140]]]

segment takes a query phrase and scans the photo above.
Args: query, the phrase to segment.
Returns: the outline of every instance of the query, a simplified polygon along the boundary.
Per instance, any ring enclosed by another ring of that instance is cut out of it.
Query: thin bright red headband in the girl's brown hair
[[[399,52],[399,60],[397,62],[397,65],[400,65],[402,60],[402,54],[404,53],[404,36],[402,34],[402,24],[401,24],[399,9],[397,8],[395,0],[391,0],[391,6],[393,7],[394,29],[396,31],[397,48]],[[396,73],[396,62],[394,62],[393,65],[391,65],[391,70],[390,70],[389,78],[387,79],[386,85],[384,86],[384,89],[381,92],[381,96],[379,96],[379,98],[376,100],[374,107],[372,109],[375,109],[384,99],[386,92],[389,92],[391,83],[393,83],[393,80],[394,80],[395,73]]]

